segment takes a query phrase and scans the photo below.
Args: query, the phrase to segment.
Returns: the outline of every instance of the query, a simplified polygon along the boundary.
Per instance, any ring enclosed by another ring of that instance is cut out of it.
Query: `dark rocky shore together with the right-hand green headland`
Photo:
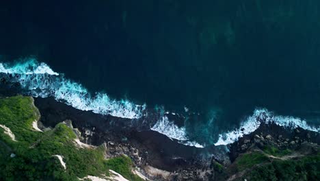
[[[36,99],[42,128],[70,120],[81,142],[105,144],[106,156],[129,156],[146,180],[317,180],[320,134],[262,123],[230,145],[196,148],[157,132],[137,131],[116,117]],[[261,120],[263,122],[263,120]],[[290,166],[290,167],[288,167]]]

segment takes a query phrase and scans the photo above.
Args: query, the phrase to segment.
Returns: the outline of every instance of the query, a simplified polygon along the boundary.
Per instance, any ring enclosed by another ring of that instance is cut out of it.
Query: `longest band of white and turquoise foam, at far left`
[[[0,73],[13,75],[10,81],[19,82],[31,96],[52,96],[80,110],[137,119],[146,108],[146,105],[136,105],[128,100],[111,99],[104,93],[92,96],[81,84],[66,79],[63,74],[56,73],[47,64],[38,63],[34,58],[13,65],[0,63]]]

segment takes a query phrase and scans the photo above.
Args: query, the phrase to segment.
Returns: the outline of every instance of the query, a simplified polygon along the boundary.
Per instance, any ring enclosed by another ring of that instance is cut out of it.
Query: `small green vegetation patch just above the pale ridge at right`
[[[243,154],[239,156],[236,160],[237,169],[242,171],[244,169],[249,169],[254,165],[267,162],[269,158],[261,152],[252,152],[248,154]]]

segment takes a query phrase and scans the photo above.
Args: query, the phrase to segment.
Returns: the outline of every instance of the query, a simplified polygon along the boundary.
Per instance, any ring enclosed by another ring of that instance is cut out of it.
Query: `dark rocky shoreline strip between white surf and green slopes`
[[[81,142],[106,144],[109,158],[129,156],[137,172],[149,180],[236,180],[244,173],[238,176],[237,171],[232,171],[233,165],[239,156],[252,150],[263,152],[272,147],[280,151],[304,148],[311,150],[309,154],[319,152],[319,133],[302,128],[291,130],[275,123],[261,124],[256,131],[229,145],[197,148],[179,144],[158,132],[137,131],[131,126],[134,120],[77,110],[52,98],[36,98],[35,104],[42,115],[40,128],[70,120],[81,132]]]

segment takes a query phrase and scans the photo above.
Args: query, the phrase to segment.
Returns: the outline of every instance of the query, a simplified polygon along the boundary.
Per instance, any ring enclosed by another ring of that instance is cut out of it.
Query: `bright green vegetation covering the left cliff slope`
[[[37,132],[32,122],[39,113],[31,97],[0,99],[0,124],[10,128],[10,136],[0,128],[0,180],[77,180],[85,176],[109,176],[109,169],[129,180],[142,180],[133,173],[133,162],[126,156],[105,160],[104,147],[77,147],[75,133],[64,123],[53,130]],[[15,154],[13,158],[10,154]],[[66,169],[53,155],[60,155]]]

